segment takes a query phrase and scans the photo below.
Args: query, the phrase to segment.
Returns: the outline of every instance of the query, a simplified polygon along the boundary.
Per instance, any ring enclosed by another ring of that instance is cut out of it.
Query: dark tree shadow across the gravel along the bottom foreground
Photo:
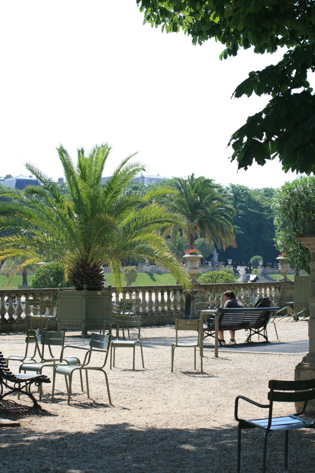
[[[215,412],[211,414],[211,409],[206,409],[205,416],[211,415]],[[89,433],[60,429],[39,434],[27,427],[2,428],[1,470],[6,473],[233,473],[236,469],[236,422],[235,426],[221,428],[137,429],[127,423],[106,424],[105,417],[100,415],[99,424]],[[289,473],[313,472],[314,442],[314,435],[307,431],[289,432]],[[261,432],[244,431],[242,446],[242,473],[261,471]],[[267,473],[283,471],[283,435],[273,433],[267,452]]]

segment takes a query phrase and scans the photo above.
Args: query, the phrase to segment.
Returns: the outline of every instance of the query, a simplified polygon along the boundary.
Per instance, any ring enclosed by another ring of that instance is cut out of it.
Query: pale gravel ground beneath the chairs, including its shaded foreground
[[[307,321],[277,322],[280,341],[307,338]],[[276,341],[272,326],[270,341]],[[116,349],[116,367],[106,371],[112,405],[108,404],[104,377],[89,375],[90,399],[73,378],[71,405],[67,405],[64,378],[56,381],[55,401],[51,385],[44,385],[43,411],[14,414],[20,427],[2,427],[0,471],[7,473],[98,473],[110,470],[140,473],[180,472],[230,473],[236,471],[236,422],[234,399],[238,394],[267,402],[270,378],[293,379],[302,354],[257,354],[205,349],[203,373],[193,370],[189,349],[175,350],[174,372],[170,372],[172,327],[141,330],[145,368],[136,352],[132,371],[132,349]],[[68,332],[66,344],[85,346],[87,339]],[[226,337],[227,338],[227,337]],[[242,342],[245,332],[236,332]],[[207,342],[208,343],[208,342]],[[22,353],[24,335],[0,334],[4,354]],[[71,353],[74,354],[73,351]],[[79,352],[78,352],[79,353]],[[79,353],[81,356],[81,353]],[[197,369],[199,368],[197,359]],[[18,364],[10,363],[13,372]],[[51,376],[47,368],[45,374]],[[25,397],[19,404],[26,405]],[[276,413],[290,413],[279,404]],[[287,407],[287,406],[286,406]],[[248,416],[248,410],[242,410]],[[256,414],[260,416],[261,411]],[[282,472],[283,432],[272,433],[267,451],[267,472]],[[315,437],[311,430],[289,433],[290,472],[314,471]],[[262,433],[243,433],[243,473],[261,471]]]

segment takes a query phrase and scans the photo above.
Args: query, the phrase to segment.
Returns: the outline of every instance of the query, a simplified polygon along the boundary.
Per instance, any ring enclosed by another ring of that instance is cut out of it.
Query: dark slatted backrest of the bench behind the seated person
[[[224,327],[259,328],[267,324],[275,307],[219,307],[217,309],[219,329]]]

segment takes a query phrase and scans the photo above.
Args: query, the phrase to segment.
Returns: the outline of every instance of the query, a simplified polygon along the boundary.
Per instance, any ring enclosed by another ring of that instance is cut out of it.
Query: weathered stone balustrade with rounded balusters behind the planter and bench
[[[268,296],[275,305],[283,294],[292,294],[293,282],[256,282],[248,281],[234,284],[195,284],[197,300],[208,301],[211,307],[224,305],[223,292],[231,289],[238,299],[245,301],[247,296]],[[122,291],[111,288],[112,301],[118,303],[121,298],[136,298],[136,312],[142,314],[146,325],[172,323],[176,317],[184,315],[185,293],[180,285],[163,286],[124,286]],[[29,314],[52,314],[53,301],[58,289],[0,289],[0,332],[25,330]],[[292,299],[291,299],[292,300]],[[32,308],[39,306],[40,309]]]

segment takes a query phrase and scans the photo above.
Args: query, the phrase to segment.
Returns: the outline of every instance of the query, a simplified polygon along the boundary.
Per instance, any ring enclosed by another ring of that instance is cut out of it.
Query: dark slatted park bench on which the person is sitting
[[[261,335],[267,342],[267,323],[270,315],[279,310],[279,307],[219,307],[216,310],[218,330],[249,330],[246,341],[250,340],[252,335]],[[205,320],[207,326],[203,328],[203,338],[215,335],[216,310],[202,311],[204,318],[210,315],[209,320]]]

